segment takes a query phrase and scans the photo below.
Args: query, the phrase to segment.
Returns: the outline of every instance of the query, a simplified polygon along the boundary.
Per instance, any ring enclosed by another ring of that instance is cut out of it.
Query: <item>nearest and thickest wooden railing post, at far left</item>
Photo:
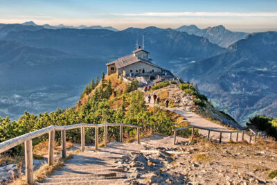
[[[25,166],[26,166],[26,177],[28,184],[34,183],[34,172],[33,172],[33,146],[32,139],[24,142],[25,146]]]

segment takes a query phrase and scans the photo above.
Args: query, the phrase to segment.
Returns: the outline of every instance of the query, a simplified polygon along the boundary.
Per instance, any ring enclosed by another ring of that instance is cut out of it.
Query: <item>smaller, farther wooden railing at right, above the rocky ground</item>
[[[211,128],[207,128],[207,127],[198,127],[198,126],[188,126],[188,127],[180,127],[180,128],[175,128],[173,129],[173,132],[174,132],[174,141],[173,141],[173,144],[176,144],[176,136],[177,136],[177,131],[179,130],[187,130],[187,129],[192,129],[191,130],[191,139],[193,139],[193,134],[195,132],[195,128],[199,129],[199,130],[208,130],[208,136],[207,136],[207,139],[210,139],[210,133],[211,132],[220,132],[220,143],[222,142],[222,133],[230,133],[230,140],[232,139],[232,134],[233,133],[237,133],[237,136],[235,138],[235,141],[237,142],[238,141],[238,134],[239,133],[242,133],[242,140],[244,140],[244,134],[247,134],[249,135],[249,143],[251,143],[251,139],[252,139],[252,136],[255,136],[255,139],[254,139],[254,143],[256,143],[256,138],[257,138],[257,133],[254,132],[253,130],[249,129],[250,130],[250,134],[247,133],[245,130],[237,130],[237,131],[228,131],[228,130],[214,130],[214,129],[211,129]]]

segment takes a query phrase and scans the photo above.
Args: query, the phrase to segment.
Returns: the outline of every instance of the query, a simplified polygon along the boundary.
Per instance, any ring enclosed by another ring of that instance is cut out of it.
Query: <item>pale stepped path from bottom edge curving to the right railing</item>
[[[179,141],[186,139],[179,138]],[[141,139],[141,144],[136,143],[108,143],[107,147],[102,147],[98,151],[86,147],[84,152],[73,155],[72,159],[66,161],[65,166],[56,170],[42,183],[36,184],[130,184],[137,179],[143,180],[141,172],[131,166],[136,166],[134,157],[141,153],[141,150],[154,148],[177,148],[174,146],[172,136],[148,136]],[[171,159],[170,159],[171,160]],[[139,176],[138,176],[139,175]]]

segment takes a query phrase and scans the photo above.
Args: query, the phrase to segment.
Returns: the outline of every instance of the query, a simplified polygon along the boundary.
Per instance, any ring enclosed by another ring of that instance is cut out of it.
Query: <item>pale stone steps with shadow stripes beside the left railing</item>
[[[85,150],[37,184],[129,184],[134,174],[128,172],[124,160],[142,148],[138,143],[113,142],[98,151]]]

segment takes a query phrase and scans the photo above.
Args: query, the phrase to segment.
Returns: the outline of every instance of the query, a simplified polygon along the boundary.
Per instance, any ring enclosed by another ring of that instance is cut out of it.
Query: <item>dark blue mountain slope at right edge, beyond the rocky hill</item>
[[[188,64],[177,74],[197,83],[237,121],[256,114],[277,117],[277,32],[248,35],[224,53]]]

